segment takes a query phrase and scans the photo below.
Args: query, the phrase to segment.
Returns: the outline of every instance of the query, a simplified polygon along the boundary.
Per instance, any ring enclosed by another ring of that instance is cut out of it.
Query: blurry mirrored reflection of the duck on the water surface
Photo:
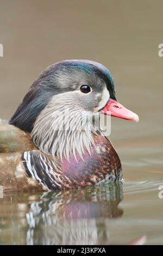
[[[53,193],[12,194],[12,201],[5,196],[1,199],[0,241],[6,237],[8,243],[15,244],[108,244],[110,234],[105,222],[122,216],[123,210],[118,207],[122,198],[121,182]]]

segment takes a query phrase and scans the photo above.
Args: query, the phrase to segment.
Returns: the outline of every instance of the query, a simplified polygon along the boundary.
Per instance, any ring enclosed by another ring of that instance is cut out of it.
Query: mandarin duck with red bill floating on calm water
[[[9,124],[0,124],[3,191],[65,190],[120,180],[114,147],[92,126],[99,111],[139,120],[116,100],[103,65],[67,60],[43,71]]]

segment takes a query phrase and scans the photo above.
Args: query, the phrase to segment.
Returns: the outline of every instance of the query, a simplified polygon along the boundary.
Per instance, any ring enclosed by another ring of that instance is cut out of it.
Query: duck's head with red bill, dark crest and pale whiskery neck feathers
[[[89,120],[100,111],[139,121],[117,101],[113,78],[105,66],[90,60],[65,60],[40,74],[9,123],[30,132],[43,153],[68,159],[76,151],[82,156],[84,148],[91,154],[97,131],[90,129]],[[79,122],[79,113],[84,124]],[[73,129],[59,129],[67,120]]]

